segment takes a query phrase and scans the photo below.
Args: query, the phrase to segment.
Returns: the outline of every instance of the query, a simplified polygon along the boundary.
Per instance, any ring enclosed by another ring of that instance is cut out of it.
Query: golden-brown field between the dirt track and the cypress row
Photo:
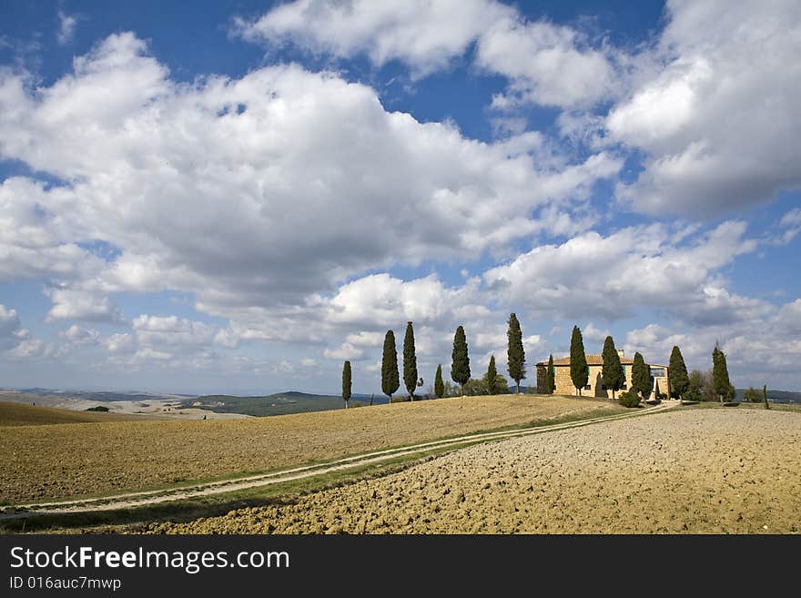
[[[365,451],[624,410],[608,400],[464,397],[233,421],[0,428],[0,502],[140,490]]]

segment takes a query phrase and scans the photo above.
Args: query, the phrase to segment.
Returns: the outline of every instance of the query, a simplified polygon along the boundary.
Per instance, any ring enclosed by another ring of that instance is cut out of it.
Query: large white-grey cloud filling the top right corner
[[[672,1],[611,136],[645,169],[618,197],[648,214],[709,216],[801,186],[801,5]]]

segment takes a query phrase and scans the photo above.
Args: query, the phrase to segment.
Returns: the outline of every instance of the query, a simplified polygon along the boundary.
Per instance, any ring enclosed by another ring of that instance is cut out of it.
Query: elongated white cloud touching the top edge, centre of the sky
[[[505,76],[493,106],[592,105],[612,89],[608,56],[571,27],[529,22],[494,0],[398,0],[320,3],[297,0],[236,21],[240,35],[315,54],[364,54],[375,66],[400,60],[421,77],[441,70],[476,44],[476,66]]]

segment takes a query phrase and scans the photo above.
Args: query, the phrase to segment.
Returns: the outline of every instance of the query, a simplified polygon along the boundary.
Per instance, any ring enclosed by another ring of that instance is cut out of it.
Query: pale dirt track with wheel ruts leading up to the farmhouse
[[[443,441],[421,442],[398,449],[373,451],[367,454],[346,457],[337,461],[330,461],[328,463],[295,467],[287,470],[273,471],[270,473],[264,473],[259,475],[243,476],[239,478],[229,479],[226,481],[213,481],[204,484],[198,484],[197,486],[192,486],[191,488],[179,488],[171,491],[162,490],[162,491],[152,491],[152,492],[127,492],[111,496],[105,496],[97,499],[86,499],[86,500],[76,500],[76,501],[36,502],[28,504],[18,504],[12,507],[6,507],[4,512],[0,512],[0,521],[7,519],[28,517],[32,514],[37,514],[37,513],[55,514],[55,513],[114,511],[117,509],[134,509],[137,507],[144,507],[162,502],[172,502],[184,499],[210,496],[213,494],[220,494],[225,492],[247,490],[250,488],[257,488],[259,486],[268,486],[271,484],[281,483],[285,481],[293,481],[302,478],[309,478],[311,476],[330,473],[333,471],[353,469],[361,467],[363,465],[380,463],[382,461],[390,461],[398,457],[411,456],[436,449],[458,448],[460,446],[472,444],[475,442],[494,441],[494,440],[503,440],[503,439],[521,437],[521,436],[530,436],[532,434],[542,434],[548,431],[570,430],[572,428],[578,428],[589,424],[600,423],[605,421],[630,419],[633,417],[644,415],[646,413],[654,413],[655,411],[671,409],[676,404],[677,403],[675,403],[674,401],[668,401],[666,403],[657,405],[655,407],[649,407],[644,410],[633,411],[630,413],[627,412],[618,415],[596,417],[581,421],[571,421],[548,426],[540,426],[537,428],[523,428],[523,429],[508,430],[508,431],[466,434],[457,438],[451,438]]]

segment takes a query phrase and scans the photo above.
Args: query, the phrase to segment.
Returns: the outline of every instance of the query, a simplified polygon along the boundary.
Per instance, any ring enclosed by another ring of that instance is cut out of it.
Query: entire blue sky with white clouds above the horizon
[[[380,392],[613,334],[801,390],[801,3],[11,0],[0,387]]]

